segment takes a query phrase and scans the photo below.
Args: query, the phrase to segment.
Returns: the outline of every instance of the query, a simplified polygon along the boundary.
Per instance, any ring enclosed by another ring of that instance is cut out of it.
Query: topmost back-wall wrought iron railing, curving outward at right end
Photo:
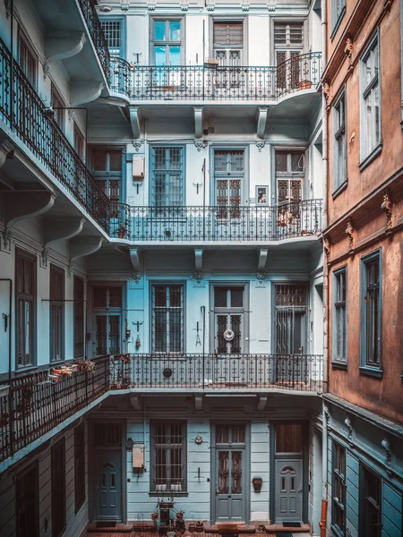
[[[276,100],[315,87],[320,52],[295,56],[270,67],[134,65],[133,100]]]

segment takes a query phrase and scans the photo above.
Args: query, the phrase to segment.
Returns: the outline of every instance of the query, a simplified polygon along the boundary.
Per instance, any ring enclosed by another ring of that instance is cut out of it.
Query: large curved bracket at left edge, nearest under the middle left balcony
[[[38,217],[51,209],[56,195],[47,191],[4,191],[3,214],[5,226],[11,226],[17,220]]]

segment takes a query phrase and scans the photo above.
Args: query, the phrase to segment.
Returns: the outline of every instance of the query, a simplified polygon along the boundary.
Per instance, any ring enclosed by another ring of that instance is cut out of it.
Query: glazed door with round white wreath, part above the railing
[[[244,352],[244,286],[214,286],[214,350]],[[229,335],[226,337],[226,333]]]

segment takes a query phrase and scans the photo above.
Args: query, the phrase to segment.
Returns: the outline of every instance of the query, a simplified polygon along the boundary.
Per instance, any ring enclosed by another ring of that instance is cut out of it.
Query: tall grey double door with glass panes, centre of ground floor
[[[216,426],[216,520],[245,519],[245,426]]]

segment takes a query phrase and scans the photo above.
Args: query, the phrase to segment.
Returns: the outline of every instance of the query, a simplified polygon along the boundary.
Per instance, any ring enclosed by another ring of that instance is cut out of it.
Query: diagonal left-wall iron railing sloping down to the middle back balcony
[[[0,40],[0,119],[106,231],[110,201]]]

